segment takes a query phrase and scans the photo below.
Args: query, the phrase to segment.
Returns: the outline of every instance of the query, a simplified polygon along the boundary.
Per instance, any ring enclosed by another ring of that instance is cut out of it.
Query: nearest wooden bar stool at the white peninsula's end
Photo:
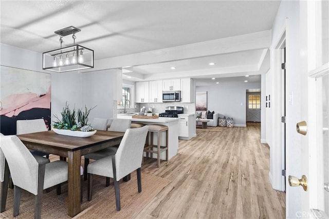
[[[166,146],[160,145],[160,136],[161,132],[166,132]],[[158,142],[157,145],[153,145],[153,134],[157,133]],[[149,132],[147,136],[147,140],[149,140],[149,135],[151,136],[149,143],[144,147],[144,152],[148,154],[151,153],[151,158],[153,157],[153,153],[157,153],[158,167],[160,167],[160,153],[166,151],[166,161],[168,161],[168,127],[164,125],[149,125]],[[156,150],[154,150],[156,148]]]

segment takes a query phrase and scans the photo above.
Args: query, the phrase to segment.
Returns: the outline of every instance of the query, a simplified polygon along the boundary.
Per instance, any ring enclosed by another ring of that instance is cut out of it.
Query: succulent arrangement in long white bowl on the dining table
[[[81,109],[78,109],[78,111],[76,111],[75,108],[73,110],[70,110],[70,108],[66,103],[65,107],[63,108],[63,111],[61,112],[62,120],[60,120],[57,115],[54,115],[54,117],[57,118],[58,121],[53,124],[52,126],[53,131],[58,134],[66,133],[65,135],[72,135],[72,136],[82,135],[83,137],[91,136],[95,134],[96,130],[94,130],[93,127],[90,124],[88,124],[88,115],[90,111],[94,108],[87,109],[87,107],[85,107],[84,111],[82,111]],[[78,123],[77,123],[77,118],[78,118]],[[79,133],[79,132],[85,132],[85,133]]]

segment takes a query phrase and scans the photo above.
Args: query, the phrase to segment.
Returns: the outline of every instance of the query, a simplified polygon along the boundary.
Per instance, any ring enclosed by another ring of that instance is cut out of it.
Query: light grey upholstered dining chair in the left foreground
[[[5,155],[14,184],[13,216],[20,213],[21,189],[35,195],[34,218],[41,218],[43,190],[67,181],[65,161],[38,163],[20,138],[1,136],[0,147]]]

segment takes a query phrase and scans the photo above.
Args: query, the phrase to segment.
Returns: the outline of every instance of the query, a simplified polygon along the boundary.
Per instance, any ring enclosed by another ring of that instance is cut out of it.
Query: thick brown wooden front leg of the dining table
[[[81,211],[81,151],[68,152],[68,206],[67,214],[74,217]]]

